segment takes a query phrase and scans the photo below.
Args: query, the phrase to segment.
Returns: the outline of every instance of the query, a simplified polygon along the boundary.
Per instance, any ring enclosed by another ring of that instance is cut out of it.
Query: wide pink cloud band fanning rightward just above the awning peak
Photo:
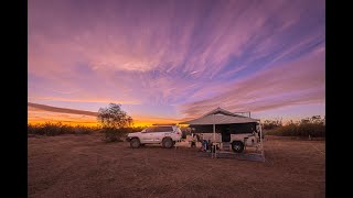
[[[275,66],[228,87],[214,98],[182,106],[189,117],[223,107],[232,111],[265,111],[288,106],[324,103],[324,52]],[[290,80],[288,80],[290,79]]]

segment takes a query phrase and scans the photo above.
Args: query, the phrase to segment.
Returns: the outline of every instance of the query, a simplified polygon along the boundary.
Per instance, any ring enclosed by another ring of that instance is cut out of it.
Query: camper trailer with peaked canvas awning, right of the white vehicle
[[[202,141],[220,144],[221,150],[236,153],[242,153],[246,147],[258,148],[264,138],[259,120],[221,108],[182,124],[189,124],[192,133],[199,134]]]

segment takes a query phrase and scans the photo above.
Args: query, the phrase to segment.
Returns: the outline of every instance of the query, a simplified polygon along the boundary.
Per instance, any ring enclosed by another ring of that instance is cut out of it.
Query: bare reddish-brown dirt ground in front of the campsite
[[[197,148],[104,143],[99,134],[28,139],[29,197],[325,197],[325,142],[266,136],[266,162]]]

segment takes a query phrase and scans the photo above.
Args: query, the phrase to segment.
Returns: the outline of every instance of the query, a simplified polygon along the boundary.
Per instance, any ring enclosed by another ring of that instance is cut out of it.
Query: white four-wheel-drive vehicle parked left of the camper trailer
[[[145,144],[162,144],[162,147],[171,148],[182,138],[178,125],[153,125],[141,132],[129,133],[127,141],[136,148]]]

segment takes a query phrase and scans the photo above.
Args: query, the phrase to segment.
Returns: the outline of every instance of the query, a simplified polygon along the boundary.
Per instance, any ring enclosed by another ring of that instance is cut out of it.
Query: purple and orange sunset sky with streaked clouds
[[[28,120],[325,114],[323,0],[29,0]]]

